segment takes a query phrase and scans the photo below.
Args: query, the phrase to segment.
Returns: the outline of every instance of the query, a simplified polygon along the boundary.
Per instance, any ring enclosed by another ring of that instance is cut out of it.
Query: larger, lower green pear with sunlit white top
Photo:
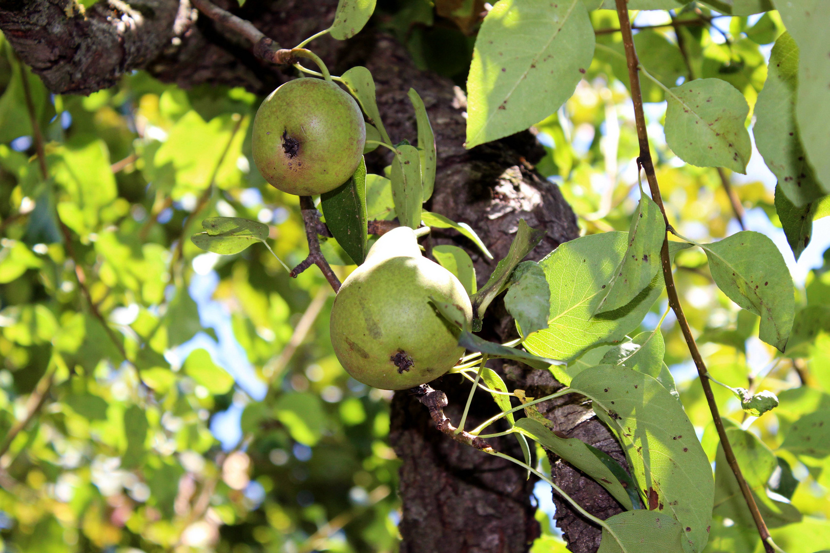
[[[421,255],[415,232],[381,236],[334,298],[334,353],[354,380],[404,390],[442,376],[464,354],[458,327],[432,304],[452,303],[467,323],[470,298],[454,274]]]

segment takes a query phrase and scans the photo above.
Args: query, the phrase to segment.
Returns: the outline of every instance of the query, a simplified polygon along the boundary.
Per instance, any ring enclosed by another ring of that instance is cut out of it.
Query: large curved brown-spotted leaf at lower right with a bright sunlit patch
[[[684,529],[683,550],[702,551],[715,483],[680,402],[651,376],[620,366],[586,369],[574,377],[571,388],[613,420],[649,509],[671,512]]]

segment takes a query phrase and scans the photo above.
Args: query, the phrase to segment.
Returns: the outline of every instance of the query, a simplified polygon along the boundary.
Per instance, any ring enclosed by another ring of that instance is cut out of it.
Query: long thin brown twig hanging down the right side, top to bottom
[[[623,46],[625,46],[626,52],[628,78],[631,83],[631,96],[632,102],[634,104],[634,119],[637,124],[637,139],[640,144],[640,157],[637,158],[637,163],[641,164],[643,169],[645,169],[646,171],[648,186],[652,192],[652,200],[654,200],[655,203],[657,203],[657,206],[660,207],[660,211],[663,214],[663,219],[666,221],[666,230],[669,230],[671,229],[671,225],[669,224],[668,217],[666,216],[666,208],[665,206],[663,206],[662,196],[660,194],[660,187],[657,184],[657,175],[654,172],[654,165],[652,163],[652,153],[651,149],[648,146],[646,118],[642,110],[640,75],[637,69],[639,61],[637,60],[637,51],[635,51],[634,48],[634,39],[631,31],[631,22],[628,19],[628,9],[626,6],[626,0],[616,0],[616,3],[617,14],[620,20],[620,28],[623,32]],[[667,233],[663,239],[661,260],[663,278],[666,282],[666,294],[669,298],[669,304],[671,305],[671,309],[675,312],[677,323],[680,325],[681,331],[683,332],[683,337],[686,338],[686,345],[689,347],[691,358],[695,361],[695,366],[697,367],[697,372],[700,376],[701,386],[703,387],[704,395],[706,395],[706,402],[709,404],[709,410],[712,415],[712,420],[715,422],[715,428],[718,431],[718,436],[720,437],[720,444],[724,449],[726,461],[727,463],[729,463],[732,472],[735,474],[735,479],[738,481],[740,491],[744,495],[746,505],[747,507],[749,507],[749,512],[752,513],[752,517],[755,521],[755,526],[758,527],[758,533],[761,536],[761,541],[764,542],[764,551],[766,551],[766,553],[774,553],[773,547],[770,546],[769,542],[767,541],[769,539],[769,530],[767,529],[767,526],[764,523],[764,518],[761,517],[761,513],[758,510],[758,506],[755,504],[754,497],[752,497],[752,491],[749,489],[749,485],[747,485],[744,475],[740,471],[738,461],[737,459],[735,459],[735,452],[732,450],[732,446],[730,445],[729,439],[726,436],[726,430],[724,429],[723,420],[720,419],[718,405],[715,402],[715,395],[712,393],[712,387],[710,386],[709,379],[707,378],[708,371],[706,371],[706,364],[703,362],[701,352],[697,349],[695,338],[691,334],[689,322],[686,320],[685,313],[683,313],[680,298],[678,298],[677,296],[677,289],[674,284],[674,277],[671,274],[671,260],[669,259]]]

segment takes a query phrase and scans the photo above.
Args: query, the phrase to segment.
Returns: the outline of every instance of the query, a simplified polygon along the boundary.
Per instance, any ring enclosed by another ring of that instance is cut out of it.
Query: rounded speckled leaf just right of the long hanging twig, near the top
[[[749,104],[720,79],[696,79],[669,90],[666,143],[686,163],[745,173],[752,144],[744,126]]]

